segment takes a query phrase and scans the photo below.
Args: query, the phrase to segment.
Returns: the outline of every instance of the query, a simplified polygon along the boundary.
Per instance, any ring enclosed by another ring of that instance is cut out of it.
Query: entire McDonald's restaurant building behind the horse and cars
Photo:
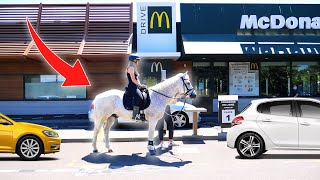
[[[1,5],[0,112],[85,114],[96,94],[124,89],[131,52],[143,59],[140,73],[148,86],[188,71],[198,95],[192,103],[209,114],[217,112],[218,95],[238,95],[239,109],[262,97],[318,98],[319,9],[174,2]],[[26,16],[58,56],[71,65],[81,61],[90,87],[61,88],[64,79],[31,41]]]

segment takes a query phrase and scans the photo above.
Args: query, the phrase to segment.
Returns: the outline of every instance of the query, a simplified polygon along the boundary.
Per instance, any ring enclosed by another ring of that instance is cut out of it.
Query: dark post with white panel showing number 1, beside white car
[[[238,114],[238,95],[218,96],[218,118],[222,128],[230,128],[233,118]]]

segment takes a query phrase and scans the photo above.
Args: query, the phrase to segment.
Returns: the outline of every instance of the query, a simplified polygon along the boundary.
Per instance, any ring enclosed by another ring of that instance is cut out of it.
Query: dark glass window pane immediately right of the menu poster
[[[290,96],[290,63],[261,62],[261,96]]]

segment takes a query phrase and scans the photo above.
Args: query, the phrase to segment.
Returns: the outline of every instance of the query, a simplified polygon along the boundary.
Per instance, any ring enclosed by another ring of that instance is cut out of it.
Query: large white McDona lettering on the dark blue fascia
[[[282,15],[242,15],[240,29],[320,29],[320,17],[288,17]]]

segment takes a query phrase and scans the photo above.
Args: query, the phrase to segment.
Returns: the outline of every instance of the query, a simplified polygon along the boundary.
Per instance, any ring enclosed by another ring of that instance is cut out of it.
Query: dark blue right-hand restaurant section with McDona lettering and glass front
[[[320,96],[320,4],[180,4],[181,58],[192,62],[196,106],[217,96]]]

